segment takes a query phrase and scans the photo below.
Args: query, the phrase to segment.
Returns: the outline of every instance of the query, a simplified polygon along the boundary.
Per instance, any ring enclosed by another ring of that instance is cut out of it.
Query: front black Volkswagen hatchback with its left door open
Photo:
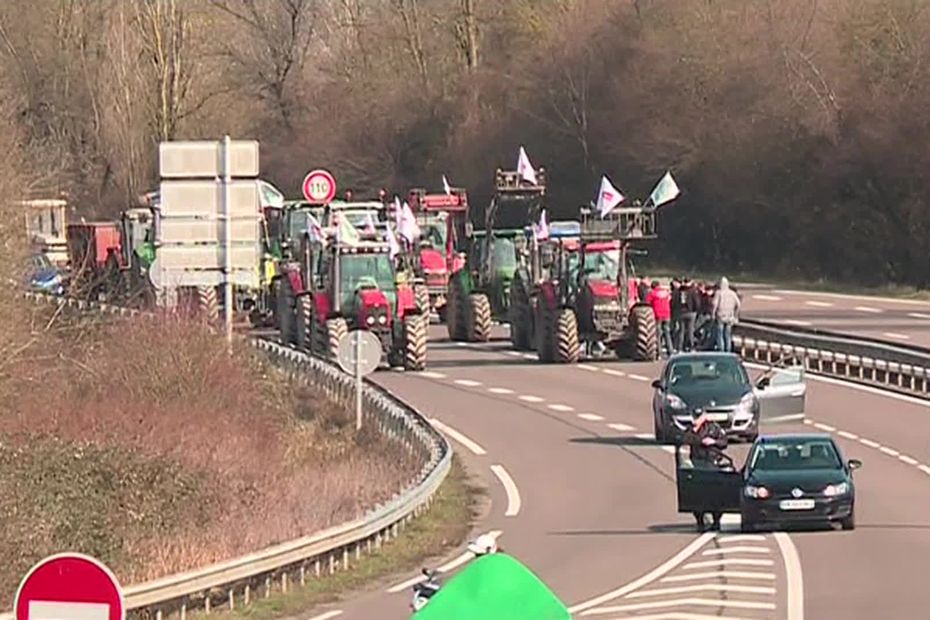
[[[739,512],[742,530],[796,523],[856,527],[853,471],[829,435],[759,437],[739,470],[692,462],[687,446],[676,451],[678,511]]]

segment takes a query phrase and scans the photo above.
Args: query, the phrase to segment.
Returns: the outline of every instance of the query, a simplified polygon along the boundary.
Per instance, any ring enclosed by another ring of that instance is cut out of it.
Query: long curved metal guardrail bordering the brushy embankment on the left
[[[37,302],[121,316],[143,313],[75,299],[27,293]],[[334,401],[354,403],[354,380],[334,364],[280,344],[256,338],[254,346],[271,356],[294,381],[325,393]],[[420,471],[385,504],[349,523],[275,545],[239,558],[124,588],[130,615],[157,618],[195,609],[235,609],[251,600],[286,592],[291,584],[347,570],[353,559],[395,538],[412,519],[429,509],[452,465],[452,447],[420,413],[389,392],[366,381],[362,394],[364,423],[400,442],[423,462]],[[0,620],[4,618],[0,615]]]

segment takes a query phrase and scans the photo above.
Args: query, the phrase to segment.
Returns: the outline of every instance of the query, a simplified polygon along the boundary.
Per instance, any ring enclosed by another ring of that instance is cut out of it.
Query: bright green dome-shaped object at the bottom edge
[[[444,584],[412,620],[571,620],[571,614],[526,566],[494,553]]]

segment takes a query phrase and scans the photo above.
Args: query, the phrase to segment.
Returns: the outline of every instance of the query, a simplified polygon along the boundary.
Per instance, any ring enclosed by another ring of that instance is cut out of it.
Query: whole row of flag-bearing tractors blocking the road
[[[329,359],[348,331],[370,331],[389,365],[407,370],[426,366],[433,316],[454,341],[485,342],[495,322],[509,323],[514,348],[543,362],[655,359],[656,322],[637,297],[630,260],[633,242],[656,236],[655,209],[583,208],[578,220],[547,224],[545,170],[527,176],[495,172],[480,229],[467,192],[448,184],[412,189],[403,204],[384,190],[313,204],[259,181],[259,286],[236,287],[235,312]],[[68,294],[156,304],[158,216],[152,192],[118,221],[68,224]],[[212,287],[179,290],[177,303],[219,311]]]

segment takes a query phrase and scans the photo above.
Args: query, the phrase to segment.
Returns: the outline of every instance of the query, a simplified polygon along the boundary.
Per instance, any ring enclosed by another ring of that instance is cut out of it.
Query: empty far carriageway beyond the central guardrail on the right
[[[743,316],[930,347],[930,302],[746,286]]]

